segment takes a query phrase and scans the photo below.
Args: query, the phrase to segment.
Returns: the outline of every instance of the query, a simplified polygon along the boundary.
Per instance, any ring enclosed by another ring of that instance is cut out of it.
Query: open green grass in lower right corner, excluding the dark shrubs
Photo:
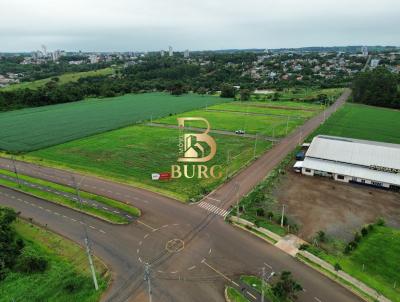
[[[339,263],[343,271],[374,288],[393,302],[400,301],[400,287],[394,288],[394,282],[397,285],[400,283],[398,269],[400,230],[375,226],[350,255],[343,255],[343,253],[332,255],[324,252],[316,252],[316,255],[332,265]]]

